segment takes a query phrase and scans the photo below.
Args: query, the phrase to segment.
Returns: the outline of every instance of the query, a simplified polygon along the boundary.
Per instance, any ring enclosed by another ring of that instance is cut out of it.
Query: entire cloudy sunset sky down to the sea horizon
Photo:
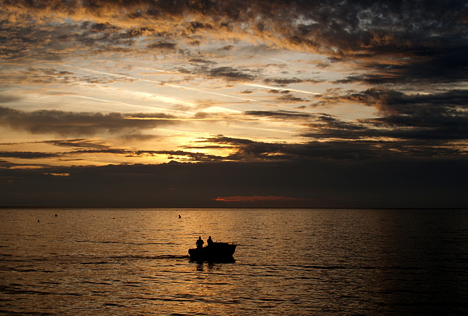
[[[468,207],[465,1],[0,3],[0,205]]]

